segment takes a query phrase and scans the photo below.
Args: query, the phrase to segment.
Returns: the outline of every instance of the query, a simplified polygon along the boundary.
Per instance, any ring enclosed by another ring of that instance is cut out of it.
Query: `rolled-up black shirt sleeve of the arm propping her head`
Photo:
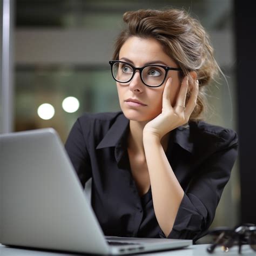
[[[193,239],[202,237],[210,227],[221,193],[230,179],[237,158],[238,138],[230,132],[228,140],[205,159],[191,180],[181,201],[171,233],[167,238]],[[165,238],[163,231],[160,237]]]

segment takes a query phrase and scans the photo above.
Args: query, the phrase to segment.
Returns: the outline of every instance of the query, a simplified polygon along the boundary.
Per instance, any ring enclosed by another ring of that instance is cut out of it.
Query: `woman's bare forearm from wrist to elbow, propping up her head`
[[[172,230],[184,191],[166,158],[160,139],[153,134],[144,134],[143,144],[154,212],[161,230],[167,236]]]

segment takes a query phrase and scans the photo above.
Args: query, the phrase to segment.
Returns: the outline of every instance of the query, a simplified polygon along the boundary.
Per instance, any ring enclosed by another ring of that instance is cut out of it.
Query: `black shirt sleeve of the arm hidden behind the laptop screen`
[[[85,141],[86,134],[84,134],[79,119],[77,119],[66,140],[65,149],[83,187],[86,181],[91,178],[91,163]]]

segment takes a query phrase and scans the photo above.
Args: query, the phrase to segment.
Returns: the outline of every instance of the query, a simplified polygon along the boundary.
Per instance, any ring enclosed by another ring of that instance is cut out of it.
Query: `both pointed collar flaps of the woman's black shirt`
[[[126,145],[126,138],[129,131],[129,119],[127,119],[124,114],[119,114],[116,122],[110,127],[109,131],[106,133],[104,138],[98,144],[96,149],[103,149],[104,147],[122,147]],[[173,130],[170,139],[174,143],[178,144],[184,150],[192,153],[193,143],[191,142],[191,132],[190,125],[179,126],[177,129]],[[117,151],[116,151],[117,153]],[[116,155],[116,158],[119,156]]]

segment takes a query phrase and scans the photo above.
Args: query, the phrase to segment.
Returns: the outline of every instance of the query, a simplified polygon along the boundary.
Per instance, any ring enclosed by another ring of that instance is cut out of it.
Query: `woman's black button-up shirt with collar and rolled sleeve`
[[[165,238],[149,190],[134,183],[122,112],[84,114],[73,125],[65,148],[84,186],[92,177],[91,204],[105,235]],[[198,239],[214,218],[237,157],[237,134],[205,122],[171,131],[166,156],[185,191],[168,238]],[[171,195],[170,195],[171,197]]]

